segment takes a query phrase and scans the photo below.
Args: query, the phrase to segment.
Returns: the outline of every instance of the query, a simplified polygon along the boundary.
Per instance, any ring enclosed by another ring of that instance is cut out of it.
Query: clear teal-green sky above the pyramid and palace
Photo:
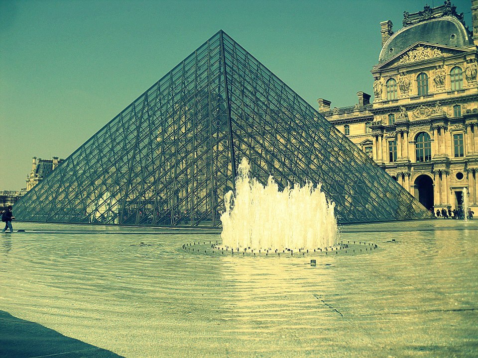
[[[430,0],[439,6],[444,0]],[[372,94],[379,22],[421,0],[0,0],[0,190],[68,157],[223,29],[317,108]],[[471,28],[470,0],[452,1]]]

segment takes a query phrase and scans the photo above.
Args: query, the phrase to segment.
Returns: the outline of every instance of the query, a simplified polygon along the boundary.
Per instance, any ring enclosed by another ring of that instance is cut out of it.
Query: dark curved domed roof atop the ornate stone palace
[[[395,32],[383,45],[378,62],[387,62],[417,42],[459,48],[474,44],[469,31],[461,21],[456,17],[441,17],[418,22]]]

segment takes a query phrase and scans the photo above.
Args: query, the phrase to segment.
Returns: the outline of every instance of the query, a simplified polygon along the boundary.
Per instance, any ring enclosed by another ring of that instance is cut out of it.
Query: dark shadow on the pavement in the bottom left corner
[[[122,358],[0,310],[0,358]]]

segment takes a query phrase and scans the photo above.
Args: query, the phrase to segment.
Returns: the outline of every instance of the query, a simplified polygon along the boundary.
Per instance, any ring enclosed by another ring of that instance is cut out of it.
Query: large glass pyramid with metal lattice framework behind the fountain
[[[222,30],[24,195],[15,216],[219,226],[242,157],[262,183],[322,182],[341,223],[432,217]]]

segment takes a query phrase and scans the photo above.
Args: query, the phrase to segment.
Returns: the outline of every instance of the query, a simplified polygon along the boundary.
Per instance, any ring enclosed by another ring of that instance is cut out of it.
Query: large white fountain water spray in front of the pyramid
[[[316,249],[338,241],[335,203],[321,192],[322,184],[294,184],[279,191],[269,177],[264,186],[249,176],[243,158],[236,179],[236,193],[224,195],[226,211],[221,215],[223,246],[259,249]]]

